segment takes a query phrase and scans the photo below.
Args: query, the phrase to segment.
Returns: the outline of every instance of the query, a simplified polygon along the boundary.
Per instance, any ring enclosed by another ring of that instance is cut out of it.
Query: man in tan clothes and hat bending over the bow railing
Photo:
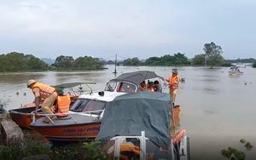
[[[53,112],[51,111],[51,107],[53,106],[55,100],[57,99],[57,92],[56,89],[53,87],[50,87],[47,84],[44,83],[38,83],[37,81],[31,79],[27,82],[27,88],[32,89],[33,94],[35,95],[35,103],[36,103],[36,115],[38,115],[38,107],[40,104],[41,99],[44,99],[44,102],[42,104],[42,109],[45,114],[49,114],[49,117],[52,120],[55,120],[57,117],[53,115]],[[45,117],[44,123],[49,123],[49,118]]]

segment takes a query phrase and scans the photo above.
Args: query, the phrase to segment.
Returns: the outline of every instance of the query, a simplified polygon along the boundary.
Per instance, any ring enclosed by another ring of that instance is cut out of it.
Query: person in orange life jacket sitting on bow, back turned
[[[52,107],[52,111],[56,113],[56,117],[66,117],[71,103],[70,96],[69,94],[64,94],[62,89],[57,89],[56,92],[58,93],[58,98],[56,105]]]

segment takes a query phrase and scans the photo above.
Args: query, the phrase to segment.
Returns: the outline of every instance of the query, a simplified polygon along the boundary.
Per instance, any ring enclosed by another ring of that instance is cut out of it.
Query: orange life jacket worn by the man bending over
[[[43,99],[46,99],[50,94],[53,94],[55,92],[55,88],[50,87],[47,84],[44,83],[34,83],[32,89],[38,88],[40,89],[40,97]]]

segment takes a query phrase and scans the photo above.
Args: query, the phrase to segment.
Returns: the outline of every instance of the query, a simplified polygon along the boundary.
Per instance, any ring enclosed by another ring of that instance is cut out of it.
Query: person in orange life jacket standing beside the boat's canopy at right
[[[172,105],[174,106],[175,100],[176,100],[176,94],[178,90],[178,84],[180,82],[180,77],[177,75],[177,70],[172,71],[172,76],[169,77],[169,79],[166,79],[167,82],[169,82],[169,89],[172,96]]]

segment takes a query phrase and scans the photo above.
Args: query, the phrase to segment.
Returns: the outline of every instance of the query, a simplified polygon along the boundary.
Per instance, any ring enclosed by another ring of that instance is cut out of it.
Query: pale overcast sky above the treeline
[[[0,54],[256,58],[256,0],[0,0]]]

